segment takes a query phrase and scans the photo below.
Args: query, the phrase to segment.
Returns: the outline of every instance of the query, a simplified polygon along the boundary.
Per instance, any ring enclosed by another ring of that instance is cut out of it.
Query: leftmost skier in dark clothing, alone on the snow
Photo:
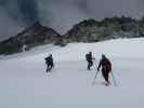
[[[45,64],[47,64],[47,72],[51,71],[51,69],[54,67],[52,54],[45,57]]]

